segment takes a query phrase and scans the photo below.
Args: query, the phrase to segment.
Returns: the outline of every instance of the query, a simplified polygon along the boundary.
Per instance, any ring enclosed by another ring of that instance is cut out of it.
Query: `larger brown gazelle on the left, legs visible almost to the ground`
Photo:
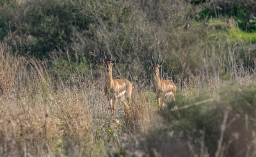
[[[109,59],[107,59],[104,51],[105,60],[100,59],[100,62],[105,66],[104,92],[107,95],[107,99],[109,101],[111,117],[114,115],[114,112],[116,110],[117,98],[121,98],[127,108],[130,107],[131,95],[133,90],[133,85],[130,81],[126,79],[112,79],[112,65],[117,60],[117,58],[112,60],[112,54],[113,52],[111,52]],[[128,102],[125,100],[125,98],[128,100]],[[112,100],[114,100],[113,106]]]

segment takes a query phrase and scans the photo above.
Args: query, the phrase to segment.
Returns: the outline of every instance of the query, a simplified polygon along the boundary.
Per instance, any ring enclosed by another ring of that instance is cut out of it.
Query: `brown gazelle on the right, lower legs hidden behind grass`
[[[156,99],[158,102],[158,107],[161,107],[160,105],[160,97],[162,98],[162,107],[165,107],[165,99],[168,96],[171,96],[172,100],[175,101],[175,93],[176,93],[176,85],[174,82],[169,81],[169,80],[161,80],[160,79],[160,72],[159,68],[162,66],[164,63],[164,60],[162,60],[159,63],[159,56],[160,54],[158,53],[158,59],[156,63],[154,62],[153,59],[153,54],[151,54],[151,60],[152,63],[148,62],[148,65],[152,67],[152,74],[153,74],[153,91],[156,94]]]

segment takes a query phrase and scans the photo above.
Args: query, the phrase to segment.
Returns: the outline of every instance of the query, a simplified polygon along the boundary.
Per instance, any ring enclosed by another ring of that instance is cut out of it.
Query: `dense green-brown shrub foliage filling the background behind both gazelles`
[[[236,29],[238,23],[242,30],[254,31],[254,2],[12,0],[1,6],[1,39],[15,54],[47,58],[54,73],[66,65],[62,78],[65,71],[97,70],[104,50],[117,57],[116,75],[143,79],[150,77],[145,63],[151,53],[165,59],[162,76],[168,73],[176,81],[180,73],[233,73],[236,65],[255,65],[255,50],[247,53],[247,44],[256,43],[254,34]],[[190,28],[184,30],[187,22]]]

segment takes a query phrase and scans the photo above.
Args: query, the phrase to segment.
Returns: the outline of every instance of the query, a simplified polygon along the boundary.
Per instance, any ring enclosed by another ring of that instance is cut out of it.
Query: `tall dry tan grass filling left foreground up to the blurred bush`
[[[14,56],[4,44],[0,48],[0,156],[114,154],[158,116],[152,92],[145,94],[137,84],[132,109],[120,101],[120,124],[112,123],[103,77],[94,83],[76,74],[53,80],[44,61]]]

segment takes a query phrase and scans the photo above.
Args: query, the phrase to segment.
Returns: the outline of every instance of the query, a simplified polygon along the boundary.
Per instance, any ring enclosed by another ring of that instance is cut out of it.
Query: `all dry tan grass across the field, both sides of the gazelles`
[[[168,130],[158,114],[155,95],[144,82],[133,81],[133,106],[127,110],[118,101],[115,116],[120,123],[113,123],[103,93],[103,77],[94,83],[89,79],[81,82],[75,74],[67,81],[53,80],[44,62],[14,57],[5,45],[0,45],[0,50],[0,156],[150,156],[151,147],[144,141],[162,146],[153,148],[155,156],[184,148],[193,151],[191,140],[173,139],[175,132]],[[240,73],[235,82],[255,85],[253,76]],[[188,99],[208,93],[219,101],[218,84],[225,84],[217,74],[176,78],[180,81],[179,94]],[[235,138],[235,133],[231,134]],[[251,136],[255,139],[255,134]],[[178,145],[168,150],[175,142]],[[227,156],[221,144],[219,154]],[[253,141],[249,146],[254,150]],[[208,153],[204,149],[202,146],[203,155]]]

